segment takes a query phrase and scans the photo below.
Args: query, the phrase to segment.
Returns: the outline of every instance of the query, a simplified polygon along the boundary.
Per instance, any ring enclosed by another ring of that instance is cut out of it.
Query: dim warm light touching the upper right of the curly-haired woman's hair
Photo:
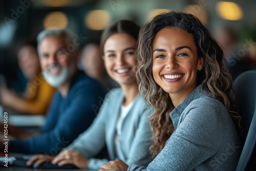
[[[184,12],[196,16],[204,24],[207,23],[207,12],[204,8],[200,7],[199,5],[189,5],[185,8]]]

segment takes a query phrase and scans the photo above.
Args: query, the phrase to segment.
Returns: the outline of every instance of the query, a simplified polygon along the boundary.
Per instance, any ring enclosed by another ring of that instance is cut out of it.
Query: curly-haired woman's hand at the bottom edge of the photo
[[[110,161],[109,164],[103,164],[98,171],[116,170],[116,171],[127,171],[128,165],[122,160]]]

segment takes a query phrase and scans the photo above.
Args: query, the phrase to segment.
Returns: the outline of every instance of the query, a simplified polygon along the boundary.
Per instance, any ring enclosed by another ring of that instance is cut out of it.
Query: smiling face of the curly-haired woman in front
[[[203,68],[193,35],[179,28],[160,30],[153,41],[153,76],[172,99],[183,100],[197,87],[197,70]]]

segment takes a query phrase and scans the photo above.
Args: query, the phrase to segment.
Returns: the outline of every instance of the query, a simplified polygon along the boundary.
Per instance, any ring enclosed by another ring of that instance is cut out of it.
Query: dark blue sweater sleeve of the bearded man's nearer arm
[[[46,124],[42,126],[42,133],[26,140],[10,141],[10,150],[16,153],[44,153],[57,155],[61,149],[86,130],[96,116],[93,105],[98,105],[99,97],[104,97],[103,89],[96,84],[88,85],[87,89],[75,87],[65,111],[56,116],[59,108],[53,103],[52,111],[47,116]]]

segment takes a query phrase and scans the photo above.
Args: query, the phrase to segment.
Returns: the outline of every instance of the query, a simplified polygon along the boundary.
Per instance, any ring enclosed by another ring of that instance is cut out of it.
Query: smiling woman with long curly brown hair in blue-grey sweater
[[[191,14],[169,12],[140,30],[139,90],[154,108],[156,158],[128,170],[235,170],[241,153],[232,79],[223,51]],[[101,170],[127,170],[121,160]]]

